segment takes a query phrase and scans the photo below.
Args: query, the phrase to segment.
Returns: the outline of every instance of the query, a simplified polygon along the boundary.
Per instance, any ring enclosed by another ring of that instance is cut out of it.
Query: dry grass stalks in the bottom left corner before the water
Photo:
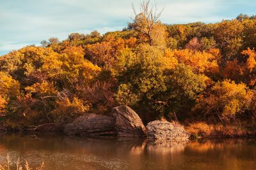
[[[20,158],[18,158],[16,161],[12,161],[10,159],[9,153],[7,153],[6,162],[4,164],[0,164],[0,170],[10,170],[10,169],[32,170],[32,168],[29,167],[29,164],[28,164],[27,160],[25,160],[24,164],[22,164],[20,162]],[[42,169],[44,169],[44,162],[42,162],[39,167],[36,167],[36,170],[42,170]]]

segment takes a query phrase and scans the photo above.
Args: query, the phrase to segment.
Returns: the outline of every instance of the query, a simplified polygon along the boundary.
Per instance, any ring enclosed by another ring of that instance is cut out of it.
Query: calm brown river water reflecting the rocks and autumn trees
[[[177,143],[128,138],[1,135],[0,162],[45,169],[256,169],[255,140]]]

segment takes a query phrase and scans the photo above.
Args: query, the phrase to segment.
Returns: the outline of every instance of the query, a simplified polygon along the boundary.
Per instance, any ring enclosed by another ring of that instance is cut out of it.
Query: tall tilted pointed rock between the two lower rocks
[[[139,115],[128,106],[118,106],[112,110],[118,136],[146,136],[146,128]]]

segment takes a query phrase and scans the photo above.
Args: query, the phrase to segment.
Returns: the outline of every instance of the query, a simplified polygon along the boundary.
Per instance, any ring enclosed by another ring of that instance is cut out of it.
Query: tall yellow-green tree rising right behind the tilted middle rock
[[[120,104],[134,106],[139,113],[144,113],[143,109],[148,111],[140,114],[146,122],[159,117],[154,106],[157,94],[166,90],[164,72],[172,69],[170,58],[164,56],[163,50],[147,44],[140,45],[134,53],[127,51],[122,55],[116,100]]]

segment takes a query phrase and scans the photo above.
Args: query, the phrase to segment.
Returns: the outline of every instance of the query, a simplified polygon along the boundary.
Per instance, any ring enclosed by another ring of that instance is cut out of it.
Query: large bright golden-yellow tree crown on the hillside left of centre
[[[52,78],[63,78],[76,83],[79,80],[90,81],[100,72],[100,67],[84,59],[83,48],[66,48],[61,55],[45,58],[42,71]]]

